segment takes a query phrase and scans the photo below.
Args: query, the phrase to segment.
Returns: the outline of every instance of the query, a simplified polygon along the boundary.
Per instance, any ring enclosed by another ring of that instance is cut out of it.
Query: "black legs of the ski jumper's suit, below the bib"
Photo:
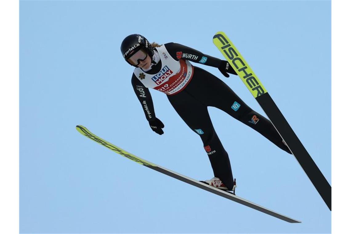
[[[271,121],[253,111],[229,86],[204,69],[194,67],[193,78],[188,86],[180,93],[167,97],[185,123],[199,134],[214,176],[220,178],[229,189],[234,185],[229,156],[213,128],[208,106],[228,113],[291,154]]]

